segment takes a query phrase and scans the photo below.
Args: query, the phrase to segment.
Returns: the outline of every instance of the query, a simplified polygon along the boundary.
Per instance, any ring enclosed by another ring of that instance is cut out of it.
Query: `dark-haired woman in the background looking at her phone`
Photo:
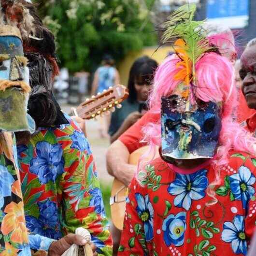
[[[157,62],[147,56],[135,60],[131,66],[128,80],[129,97],[121,109],[111,116],[109,128],[110,142],[117,138],[142,117],[146,110],[146,100],[151,89]]]

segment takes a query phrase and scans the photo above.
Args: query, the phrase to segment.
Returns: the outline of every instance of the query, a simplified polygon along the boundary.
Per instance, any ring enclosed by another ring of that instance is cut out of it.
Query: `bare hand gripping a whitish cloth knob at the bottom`
[[[80,235],[68,234],[60,240],[51,243],[48,250],[48,256],[61,256],[72,244],[84,246],[86,242],[87,241]],[[96,246],[93,243],[90,243],[90,245],[93,251],[93,256],[97,256]]]

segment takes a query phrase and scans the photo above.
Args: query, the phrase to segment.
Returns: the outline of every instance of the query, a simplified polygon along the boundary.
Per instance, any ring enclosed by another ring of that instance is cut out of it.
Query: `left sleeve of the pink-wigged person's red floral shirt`
[[[118,256],[151,255],[147,245],[147,238],[153,238],[153,224],[150,219],[152,216],[151,209],[148,207],[149,204],[151,203],[148,200],[148,195],[145,195],[143,188],[134,178],[129,186]],[[144,222],[142,218],[144,218]],[[148,218],[148,220],[145,218]]]

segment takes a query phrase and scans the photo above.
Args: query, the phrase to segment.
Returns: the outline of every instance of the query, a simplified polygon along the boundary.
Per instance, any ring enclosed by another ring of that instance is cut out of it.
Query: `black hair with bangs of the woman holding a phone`
[[[133,103],[137,100],[137,92],[135,89],[135,83],[137,84],[151,84],[154,73],[158,63],[156,60],[143,56],[137,58],[131,66],[128,80],[129,96],[128,101]]]

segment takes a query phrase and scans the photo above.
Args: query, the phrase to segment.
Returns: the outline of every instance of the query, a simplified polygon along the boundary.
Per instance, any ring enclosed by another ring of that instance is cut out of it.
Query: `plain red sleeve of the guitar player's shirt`
[[[145,143],[140,142],[143,139],[142,127],[148,122],[156,122],[157,117],[157,114],[152,114],[148,111],[118,138],[119,141],[125,144],[130,154],[138,148],[146,145]]]

